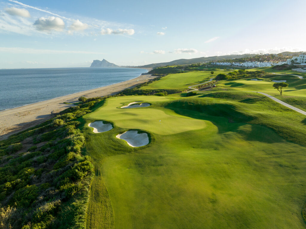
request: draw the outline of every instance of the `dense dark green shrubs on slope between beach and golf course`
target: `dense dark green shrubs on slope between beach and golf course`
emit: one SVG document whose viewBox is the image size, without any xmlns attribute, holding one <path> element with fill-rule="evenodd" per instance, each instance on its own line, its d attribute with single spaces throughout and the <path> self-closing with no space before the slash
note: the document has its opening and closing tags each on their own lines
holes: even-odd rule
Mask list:
<svg viewBox="0 0 306 229">
<path fill-rule="evenodd" d="M 16 203 L 1 222 L 12 228 L 85 228 L 94 166 L 89 156 L 81 154 L 85 138 L 76 128 L 80 125 L 76 118 L 102 101 L 88 99 L 0 141 L 1 214 Z M 23 149 L 21 141 L 26 138 L 26 144 L 33 146 L 14 154 Z M 37 145 L 40 142 L 46 143 Z"/>
</svg>

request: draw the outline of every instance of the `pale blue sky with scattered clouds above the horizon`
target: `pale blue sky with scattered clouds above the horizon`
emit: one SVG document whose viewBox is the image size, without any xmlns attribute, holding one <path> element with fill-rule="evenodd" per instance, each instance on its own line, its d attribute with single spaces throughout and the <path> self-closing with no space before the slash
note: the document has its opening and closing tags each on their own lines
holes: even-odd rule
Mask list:
<svg viewBox="0 0 306 229">
<path fill-rule="evenodd" d="M 306 51 L 305 0 L 0 0 L 0 68 Z"/>
</svg>

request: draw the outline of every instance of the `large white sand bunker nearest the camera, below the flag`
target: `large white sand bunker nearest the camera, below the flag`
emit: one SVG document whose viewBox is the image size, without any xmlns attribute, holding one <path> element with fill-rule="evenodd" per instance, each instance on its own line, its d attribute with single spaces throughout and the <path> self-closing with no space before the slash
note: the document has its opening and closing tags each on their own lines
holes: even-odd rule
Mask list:
<svg viewBox="0 0 306 229">
<path fill-rule="evenodd" d="M 148 134 L 138 134 L 138 131 L 125 131 L 123 134 L 118 134 L 116 138 L 125 140 L 129 146 L 132 147 L 145 146 L 149 144 Z"/>
</svg>

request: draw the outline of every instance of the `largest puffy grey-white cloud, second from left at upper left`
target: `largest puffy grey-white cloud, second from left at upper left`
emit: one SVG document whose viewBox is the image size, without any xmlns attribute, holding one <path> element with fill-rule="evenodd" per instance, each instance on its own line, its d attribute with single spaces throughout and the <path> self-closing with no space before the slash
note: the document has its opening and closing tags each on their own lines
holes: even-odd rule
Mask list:
<svg viewBox="0 0 306 229">
<path fill-rule="evenodd" d="M 35 21 L 34 26 L 40 31 L 62 31 L 65 28 L 65 22 L 59 17 L 41 17 Z"/>
</svg>

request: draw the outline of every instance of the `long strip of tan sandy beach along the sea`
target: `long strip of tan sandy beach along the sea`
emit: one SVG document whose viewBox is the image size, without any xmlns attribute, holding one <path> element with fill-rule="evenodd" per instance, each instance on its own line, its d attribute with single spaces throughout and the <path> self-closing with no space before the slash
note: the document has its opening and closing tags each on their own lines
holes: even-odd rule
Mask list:
<svg viewBox="0 0 306 229">
<path fill-rule="evenodd" d="M 74 94 L 49 99 L 43 102 L 37 102 L 30 105 L 1 111 L 0 140 L 6 139 L 14 133 L 25 130 L 29 127 L 33 127 L 44 122 L 45 120 L 50 119 L 52 117 L 52 111 L 57 113 L 71 106 L 64 104 L 63 102 L 78 102 L 78 97 L 80 96 L 92 98 L 98 96 L 114 95 L 126 88 L 132 88 L 155 77 L 156 76 L 152 76 L 150 74 L 141 75 L 135 79 L 130 79 L 121 83 L 77 92 Z"/>
</svg>

